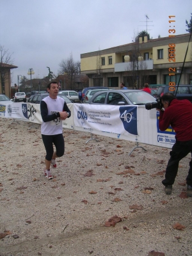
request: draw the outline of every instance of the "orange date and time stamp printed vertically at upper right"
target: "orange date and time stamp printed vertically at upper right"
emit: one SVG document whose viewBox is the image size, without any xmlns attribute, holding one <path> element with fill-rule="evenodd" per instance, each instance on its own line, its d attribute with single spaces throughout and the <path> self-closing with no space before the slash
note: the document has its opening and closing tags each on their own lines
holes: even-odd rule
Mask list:
<svg viewBox="0 0 192 256">
<path fill-rule="evenodd" d="M 174 18 L 175 18 L 175 16 L 169 16 L 170 20 L 168 20 L 168 22 L 170 24 L 175 24 L 174 23 L 175 20 L 171 20 L 171 19 L 174 19 Z M 173 26 L 170 25 L 170 28 L 171 29 L 168 29 L 168 33 L 169 34 L 175 34 L 175 25 L 173 25 Z M 171 37 L 171 38 L 174 37 L 174 36 L 175 35 L 169 35 L 169 37 Z M 168 44 L 168 49 L 169 49 L 169 51 L 168 51 L 168 54 L 169 54 L 168 61 L 175 62 L 175 44 Z M 175 76 L 175 68 L 169 68 L 168 71 L 169 71 L 169 76 Z M 175 82 L 170 82 L 169 83 L 169 91 L 171 91 L 171 92 L 175 91 Z"/>
</svg>

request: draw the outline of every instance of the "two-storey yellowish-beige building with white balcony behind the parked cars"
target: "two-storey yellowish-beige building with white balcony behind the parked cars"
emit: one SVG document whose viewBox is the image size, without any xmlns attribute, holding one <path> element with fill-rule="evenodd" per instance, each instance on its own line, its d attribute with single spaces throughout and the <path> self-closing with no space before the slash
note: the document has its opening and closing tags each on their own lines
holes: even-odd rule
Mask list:
<svg viewBox="0 0 192 256">
<path fill-rule="evenodd" d="M 144 83 L 192 84 L 192 38 L 189 42 L 189 36 L 189 33 L 172 34 L 151 40 L 145 36 L 144 40 L 136 38 L 131 44 L 81 54 L 81 74 L 89 77 L 89 86 L 116 89 L 121 82 L 127 88 L 142 88 Z"/>
</svg>

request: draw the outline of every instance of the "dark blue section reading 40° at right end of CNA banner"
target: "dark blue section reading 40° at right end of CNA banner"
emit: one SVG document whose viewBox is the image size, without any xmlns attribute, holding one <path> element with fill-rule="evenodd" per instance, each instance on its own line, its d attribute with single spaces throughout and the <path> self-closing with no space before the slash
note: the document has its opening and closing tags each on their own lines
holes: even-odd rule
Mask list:
<svg viewBox="0 0 192 256">
<path fill-rule="evenodd" d="M 124 125 L 125 131 L 138 135 L 137 127 L 137 107 L 120 107 L 120 119 Z"/>
</svg>

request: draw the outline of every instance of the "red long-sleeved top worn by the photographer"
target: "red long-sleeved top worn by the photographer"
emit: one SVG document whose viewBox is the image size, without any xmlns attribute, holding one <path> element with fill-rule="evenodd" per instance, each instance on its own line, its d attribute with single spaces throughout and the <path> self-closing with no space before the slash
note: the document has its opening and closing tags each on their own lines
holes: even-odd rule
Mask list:
<svg viewBox="0 0 192 256">
<path fill-rule="evenodd" d="M 178 141 L 192 140 L 192 104 L 189 100 L 173 99 L 168 108 L 160 111 L 159 129 L 165 131 L 169 125 L 175 130 Z"/>
</svg>

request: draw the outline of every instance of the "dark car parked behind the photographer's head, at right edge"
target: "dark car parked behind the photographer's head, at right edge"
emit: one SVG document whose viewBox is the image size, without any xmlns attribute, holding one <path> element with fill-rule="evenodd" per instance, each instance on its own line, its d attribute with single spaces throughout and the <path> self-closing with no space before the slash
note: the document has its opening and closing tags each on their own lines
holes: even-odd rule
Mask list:
<svg viewBox="0 0 192 256">
<path fill-rule="evenodd" d="M 170 90 L 172 88 L 175 88 L 174 91 Z M 175 95 L 176 91 L 176 97 L 178 100 L 183 100 L 183 99 L 187 99 L 190 100 L 192 102 L 192 84 L 179 84 L 178 86 L 178 90 L 177 90 L 177 84 L 175 84 L 175 86 L 173 87 L 169 85 L 162 85 L 159 86 L 156 94 L 154 96 L 156 97 L 161 97 L 164 93 L 173 93 Z"/>
</svg>

